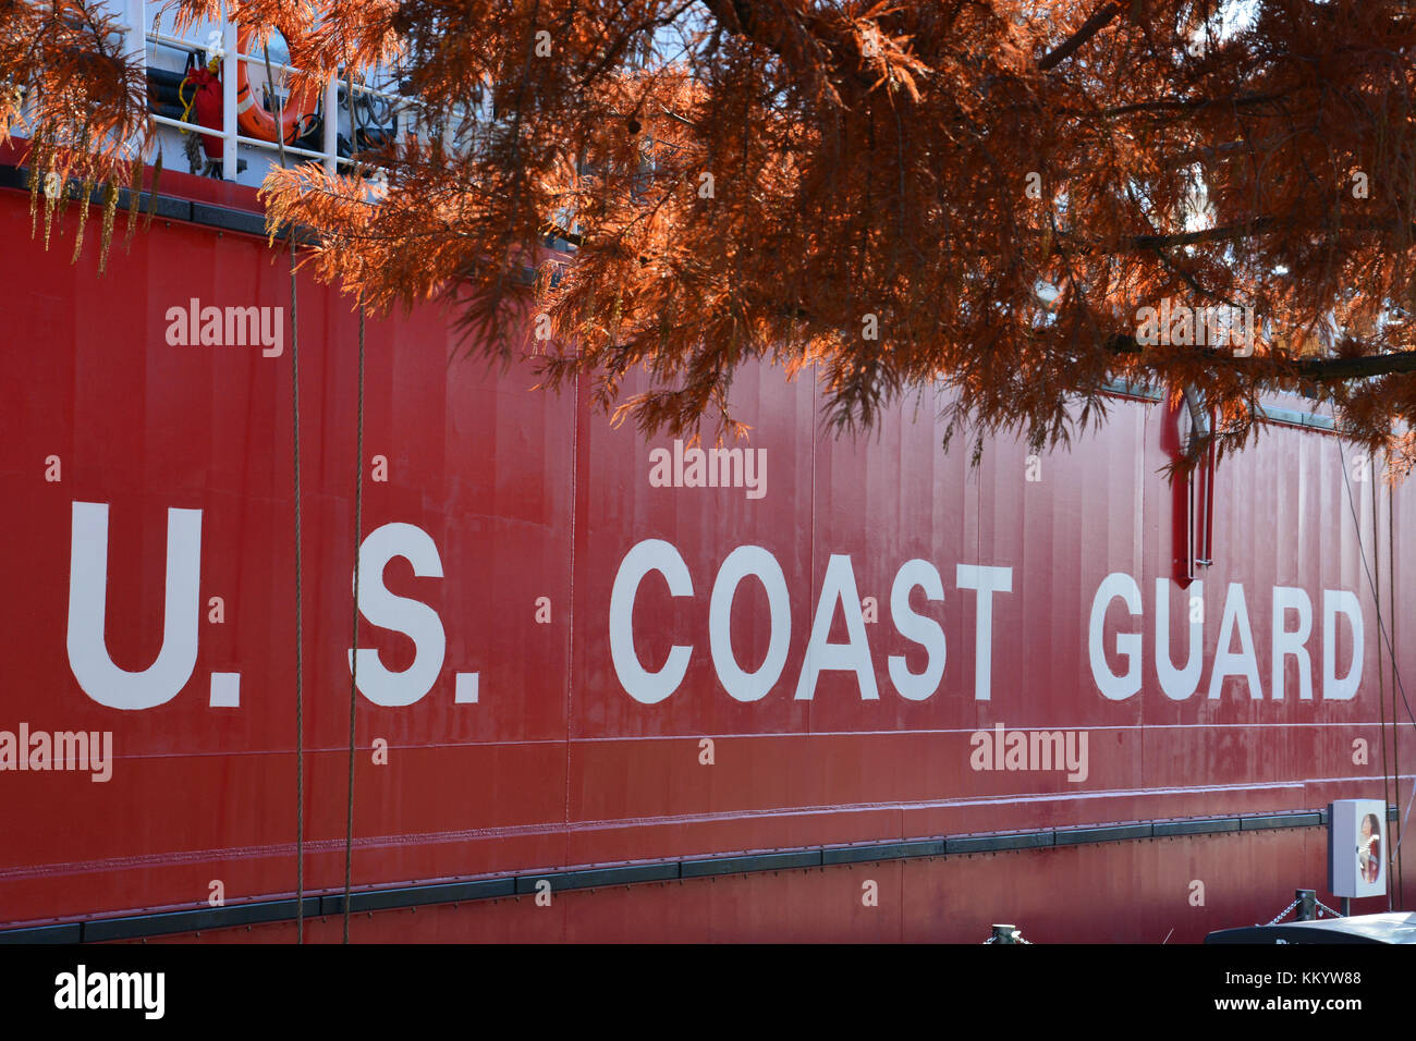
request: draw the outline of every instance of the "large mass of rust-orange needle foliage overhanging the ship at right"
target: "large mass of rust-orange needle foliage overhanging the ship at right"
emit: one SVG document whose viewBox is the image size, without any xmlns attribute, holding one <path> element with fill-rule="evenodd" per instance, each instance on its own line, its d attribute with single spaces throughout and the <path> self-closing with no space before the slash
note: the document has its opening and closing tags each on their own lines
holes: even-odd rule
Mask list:
<svg viewBox="0 0 1416 1041">
<path fill-rule="evenodd" d="M 548 381 L 589 378 L 644 429 L 733 428 L 752 358 L 814 367 L 844 426 L 943 385 L 954 423 L 1065 442 L 1113 377 L 1198 391 L 1221 449 L 1273 389 L 1372 448 L 1416 426 L 1413 3 L 235 10 L 312 76 L 396 55 L 429 130 L 365 156 L 377 205 L 358 177 L 276 170 L 272 227 L 314 229 L 317 271 L 371 307 L 453 296 L 476 351 L 547 316 Z M 1165 299 L 1250 309 L 1256 350 L 1138 343 Z"/>
</svg>

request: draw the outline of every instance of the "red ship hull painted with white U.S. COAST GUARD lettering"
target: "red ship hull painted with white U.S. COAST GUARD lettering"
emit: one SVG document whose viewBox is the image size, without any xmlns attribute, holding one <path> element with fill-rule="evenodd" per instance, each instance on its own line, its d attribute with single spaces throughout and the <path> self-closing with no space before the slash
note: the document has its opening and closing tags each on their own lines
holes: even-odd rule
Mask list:
<svg viewBox="0 0 1416 1041">
<path fill-rule="evenodd" d="M 357 319 L 300 275 L 297 623 L 295 344 L 171 343 L 193 300 L 198 317 L 289 309 L 283 256 L 157 218 L 99 276 L 92 251 L 69 263 L 72 220 L 47 252 L 27 197 L 0 191 L 0 731 L 110 734 L 110 776 L 0 772 L 0 929 L 190 939 L 197 919 L 150 916 L 303 885 L 307 939 L 337 939 L 320 898 L 344 884 Z M 1221 463 L 1195 596 L 1171 581 L 1192 528 L 1160 473 L 1164 402 L 1116 398 L 1070 450 L 991 439 L 970 466 L 967 445 L 940 448 L 929 395 L 837 439 L 811 378 L 749 370 L 733 404 L 758 470 L 716 457 L 743 479 L 697 487 L 673 439 L 610 428 L 583 389 L 532 391 L 530 363 L 456 351 L 430 305 L 368 326 L 362 585 L 382 615 L 358 630 L 377 657 L 360 661 L 353 882 L 423 905 L 388 897 L 357 940 L 977 942 L 991 922 L 1197 940 L 1267 921 L 1296 887 L 1321 898 L 1325 830 L 1303 812 L 1383 787 L 1405 810 L 1416 742 L 1398 731 L 1403 779 L 1383 786 L 1381 629 L 1412 674 L 1410 490 L 1392 564 L 1388 490 L 1374 542 L 1374 486 L 1330 433 L 1272 425 Z M 170 592 L 188 578 L 195 603 Z M 1063 732 L 1059 753 L 1085 734 L 1085 769 L 1010 766 L 1012 731 Z M 615 865 L 636 870 L 575 881 Z M 459 880 L 510 894 L 428 897 Z M 200 935 L 290 939 L 293 914 Z"/>
</svg>

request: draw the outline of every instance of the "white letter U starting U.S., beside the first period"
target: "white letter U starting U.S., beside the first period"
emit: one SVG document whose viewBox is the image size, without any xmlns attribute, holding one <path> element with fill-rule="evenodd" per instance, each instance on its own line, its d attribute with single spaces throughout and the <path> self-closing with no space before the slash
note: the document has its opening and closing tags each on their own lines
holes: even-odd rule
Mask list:
<svg viewBox="0 0 1416 1041">
<path fill-rule="evenodd" d="M 108 503 L 74 503 L 69 550 L 69 669 L 109 708 L 153 708 L 177 697 L 197 666 L 201 510 L 167 510 L 163 646 L 140 673 L 113 664 L 103 639 L 108 609 Z"/>
</svg>

